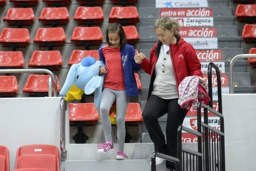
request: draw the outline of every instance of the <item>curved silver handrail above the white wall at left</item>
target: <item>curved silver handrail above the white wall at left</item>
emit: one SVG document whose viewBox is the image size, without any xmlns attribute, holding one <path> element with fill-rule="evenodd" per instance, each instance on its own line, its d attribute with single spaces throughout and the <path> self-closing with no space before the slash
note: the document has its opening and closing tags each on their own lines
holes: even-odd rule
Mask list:
<svg viewBox="0 0 256 171">
<path fill-rule="evenodd" d="M 49 74 L 49 84 L 48 84 L 48 96 L 52 97 L 52 87 L 53 87 L 53 97 L 57 97 L 57 79 L 52 71 L 48 69 L 0 69 L 0 74 L 9 73 L 46 73 Z"/>
</svg>

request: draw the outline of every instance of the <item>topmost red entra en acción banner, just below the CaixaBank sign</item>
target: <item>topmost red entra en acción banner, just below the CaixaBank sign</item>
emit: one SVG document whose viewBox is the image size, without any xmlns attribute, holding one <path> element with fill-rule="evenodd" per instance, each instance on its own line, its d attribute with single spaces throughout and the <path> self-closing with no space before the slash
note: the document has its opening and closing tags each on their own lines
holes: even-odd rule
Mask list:
<svg viewBox="0 0 256 171">
<path fill-rule="evenodd" d="M 212 9 L 209 8 L 162 8 L 160 17 L 211 17 Z"/>
</svg>

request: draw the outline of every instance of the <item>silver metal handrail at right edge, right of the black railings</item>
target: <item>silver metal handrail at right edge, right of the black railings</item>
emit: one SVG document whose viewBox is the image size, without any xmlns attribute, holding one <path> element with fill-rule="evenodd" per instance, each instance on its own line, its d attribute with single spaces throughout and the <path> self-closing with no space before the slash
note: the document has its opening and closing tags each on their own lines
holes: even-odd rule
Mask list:
<svg viewBox="0 0 256 171">
<path fill-rule="evenodd" d="M 231 61 L 230 61 L 230 66 L 229 66 L 229 94 L 234 94 L 234 71 L 233 71 L 233 66 L 236 61 L 236 59 L 239 58 L 256 58 L 256 54 L 241 54 L 241 55 L 236 55 Z"/>
</svg>

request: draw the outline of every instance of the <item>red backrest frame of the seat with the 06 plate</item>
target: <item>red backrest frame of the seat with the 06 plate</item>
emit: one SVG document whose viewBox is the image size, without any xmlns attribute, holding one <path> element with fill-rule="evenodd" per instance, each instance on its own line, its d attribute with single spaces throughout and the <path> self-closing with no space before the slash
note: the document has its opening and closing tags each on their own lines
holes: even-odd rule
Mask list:
<svg viewBox="0 0 256 171">
<path fill-rule="evenodd" d="M 60 171 L 60 152 L 55 145 L 33 144 L 23 145 L 17 150 L 15 168 L 18 168 L 18 159 L 22 155 L 52 154 L 56 159 L 57 171 Z"/>
</svg>

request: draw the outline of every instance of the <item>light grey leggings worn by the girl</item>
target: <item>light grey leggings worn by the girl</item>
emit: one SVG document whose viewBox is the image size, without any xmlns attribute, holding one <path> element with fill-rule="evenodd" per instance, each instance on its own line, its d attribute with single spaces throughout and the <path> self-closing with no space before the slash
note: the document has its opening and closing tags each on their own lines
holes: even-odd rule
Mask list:
<svg viewBox="0 0 256 171">
<path fill-rule="evenodd" d="M 106 141 L 112 141 L 111 123 L 108 113 L 115 99 L 118 151 L 124 151 L 125 113 L 130 99 L 130 97 L 126 95 L 125 90 L 112 90 L 108 88 L 103 90 L 100 99 L 101 123 Z"/>
</svg>

